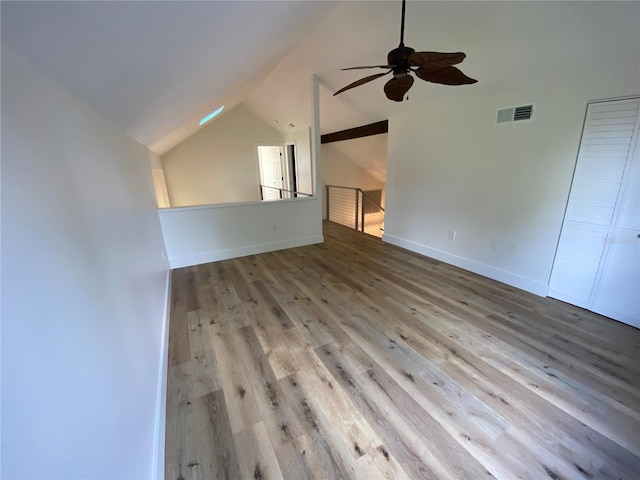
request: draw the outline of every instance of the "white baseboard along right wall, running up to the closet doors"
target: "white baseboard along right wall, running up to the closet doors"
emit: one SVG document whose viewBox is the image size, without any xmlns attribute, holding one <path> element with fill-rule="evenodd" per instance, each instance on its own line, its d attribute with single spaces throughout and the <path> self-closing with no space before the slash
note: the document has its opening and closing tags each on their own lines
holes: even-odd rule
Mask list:
<svg viewBox="0 0 640 480">
<path fill-rule="evenodd" d="M 469 258 L 460 257 L 458 255 L 443 252 L 442 250 L 427 247 L 426 245 L 421 245 L 410 240 L 405 240 L 404 238 L 394 237 L 393 235 L 389 235 L 386 233 L 383 234 L 382 240 L 392 245 L 396 245 L 398 247 L 411 250 L 412 252 L 419 253 L 426 257 L 434 258 L 441 262 L 463 268 L 473 273 L 477 273 L 478 275 L 482 275 L 483 277 L 506 283 L 507 285 L 525 290 L 527 292 L 533 293 L 534 295 L 538 295 L 541 297 L 547 296 L 549 287 L 546 283 L 522 277 L 516 273 L 501 270 L 499 268 L 492 267 L 491 265 L 476 262 L 475 260 L 471 260 Z"/>
</svg>

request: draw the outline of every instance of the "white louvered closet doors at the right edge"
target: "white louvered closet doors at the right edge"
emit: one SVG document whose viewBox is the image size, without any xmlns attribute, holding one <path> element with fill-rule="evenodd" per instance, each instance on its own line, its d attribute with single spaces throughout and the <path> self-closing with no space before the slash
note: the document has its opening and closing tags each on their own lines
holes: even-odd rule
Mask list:
<svg viewBox="0 0 640 480">
<path fill-rule="evenodd" d="M 640 328 L 639 112 L 588 107 L 549 296 Z"/>
</svg>

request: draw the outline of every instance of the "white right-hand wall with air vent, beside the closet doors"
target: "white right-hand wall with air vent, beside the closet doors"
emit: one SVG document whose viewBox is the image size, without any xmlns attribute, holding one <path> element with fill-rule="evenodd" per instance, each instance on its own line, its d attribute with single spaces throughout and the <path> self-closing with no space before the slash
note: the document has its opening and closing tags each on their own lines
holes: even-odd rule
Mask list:
<svg viewBox="0 0 640 480">
<path fill-rule="evenodd" d="M 616 75 L 434 97 L 390 118 L 384 240 L 545 295 L 587 101 L 639 93 L 630 63 Z M 525 102 L 533 121 L 495 125 L 497 108 Z"/>
</svg>

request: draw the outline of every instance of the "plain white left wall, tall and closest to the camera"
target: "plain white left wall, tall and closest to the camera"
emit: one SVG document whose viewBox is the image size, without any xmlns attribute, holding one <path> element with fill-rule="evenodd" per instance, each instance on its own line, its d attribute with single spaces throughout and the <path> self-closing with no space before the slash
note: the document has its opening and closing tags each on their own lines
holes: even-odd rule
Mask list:
<svg viewBox="0 0 640 480">
<path fill-rule="evenodd" d="M 4 47 L 1 238 L 2 477 L 150 478 L 168 265 L 149 151 Z"/>
</svg>

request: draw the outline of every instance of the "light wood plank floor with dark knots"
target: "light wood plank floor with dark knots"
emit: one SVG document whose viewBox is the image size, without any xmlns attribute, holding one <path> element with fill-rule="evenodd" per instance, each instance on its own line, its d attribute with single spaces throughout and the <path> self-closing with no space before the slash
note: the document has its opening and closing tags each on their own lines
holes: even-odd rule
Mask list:
<svg viewBox="0 0 640 480">
<path fill-rule="evenodd" d="M 640 331 L 335 224 L 173 272 L 166 478 L 640 478 Z"/>
</svg>

